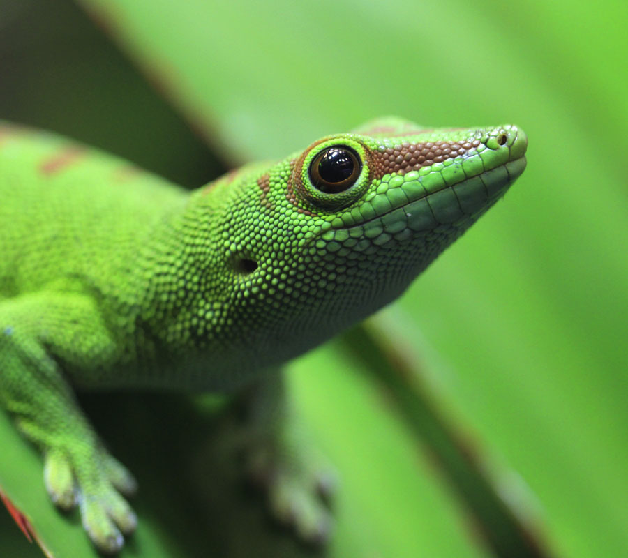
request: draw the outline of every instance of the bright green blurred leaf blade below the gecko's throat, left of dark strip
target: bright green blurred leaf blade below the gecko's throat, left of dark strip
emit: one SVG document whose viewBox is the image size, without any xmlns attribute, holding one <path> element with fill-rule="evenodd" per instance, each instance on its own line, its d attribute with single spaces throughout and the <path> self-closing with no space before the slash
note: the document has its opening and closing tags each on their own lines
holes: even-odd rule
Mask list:
<svg viewBox="0 0 628 558">
<path fill-rule="evenodd" d="M 489 555 L 482 545 L 469 544 L 472 521 L 439 482 L 431 456 L 391 412 L 394 403 L 343 342 L 328 343 L 291 368 L 304 416 L 341 472 L 331 556 Z M 353 537 L 361 552 L 347 544 Z"/>
</svg>

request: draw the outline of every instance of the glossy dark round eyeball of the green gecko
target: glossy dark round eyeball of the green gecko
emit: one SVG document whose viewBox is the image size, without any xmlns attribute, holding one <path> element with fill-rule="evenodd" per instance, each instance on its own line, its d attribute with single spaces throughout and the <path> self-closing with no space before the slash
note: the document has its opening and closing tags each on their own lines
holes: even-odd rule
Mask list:
<svg viewBox="0 0 628 558">
<path fill-rule="evenodd" d="M 359 156 L 353 149 L 334 145 L 315 156 L 310 165 L 310 179 L 317 190 L 336 194 L 351 188 L 361 169 Z"/>
</svg>

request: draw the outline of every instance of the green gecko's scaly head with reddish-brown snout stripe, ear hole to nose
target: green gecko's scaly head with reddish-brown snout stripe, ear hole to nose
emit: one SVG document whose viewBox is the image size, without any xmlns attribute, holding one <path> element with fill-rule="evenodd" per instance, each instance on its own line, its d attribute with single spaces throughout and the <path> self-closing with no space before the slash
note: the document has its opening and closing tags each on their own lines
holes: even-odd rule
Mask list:
<svg viewBox="0 0 628 558">
<path fill-rule="evenodd" d="M 277 347 L 299 335 L 315 345 L 389 303 L 504 194 L 526 146 L 511 125 L 386 119 L 251 169 L 228 195 L 217 188 L 234 323 L 272 332 Z"/>
</svg>

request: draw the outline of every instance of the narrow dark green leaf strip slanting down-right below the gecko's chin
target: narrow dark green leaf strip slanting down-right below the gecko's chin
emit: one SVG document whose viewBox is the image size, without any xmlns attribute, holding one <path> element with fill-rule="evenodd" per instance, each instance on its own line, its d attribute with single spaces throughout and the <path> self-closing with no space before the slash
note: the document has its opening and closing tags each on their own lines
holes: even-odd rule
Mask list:
<svg viewBox="0 0 628 558">
<path fill-rule="evenodd" d="M 489 472 L 486 451 L 472 442 L 461 424 L 444 416 L 435 390 L 429 389 L 414 364 L 417 359 L 401 348 L 401 328 L 390 317 L 391 312 L 380 312 L 345 333 L 343 343 L 394 399 L 398 413 L 433 455 L 495 555 L 549 557 L 531 525 L 530 520 L 538 522 L 538 518 L 531 517 L 530 509 L 522 509 L 522 502 L 512 502 L 500 493 L 495 475 Z"/>
</svg>

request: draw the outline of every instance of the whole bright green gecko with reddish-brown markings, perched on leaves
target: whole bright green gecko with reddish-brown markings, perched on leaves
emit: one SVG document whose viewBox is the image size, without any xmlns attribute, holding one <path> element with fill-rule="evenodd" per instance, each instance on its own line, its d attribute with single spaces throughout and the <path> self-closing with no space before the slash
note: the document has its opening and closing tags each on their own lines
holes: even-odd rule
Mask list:
<svg viewBox="0 0 628 558">
<path fill-rule="evenodd" d="M 393 301 L 525 169 L 516 126 L 379 119 L 192 193 L 54 135 L 0 125 L 0 406 L 59 508 L 114 553 L 133 476 L 74 389 L 237 392 L 271 512 L 323 540 L 324 476 L 281 365 Z"/>
</svg>

